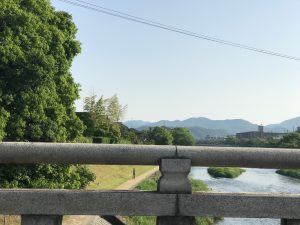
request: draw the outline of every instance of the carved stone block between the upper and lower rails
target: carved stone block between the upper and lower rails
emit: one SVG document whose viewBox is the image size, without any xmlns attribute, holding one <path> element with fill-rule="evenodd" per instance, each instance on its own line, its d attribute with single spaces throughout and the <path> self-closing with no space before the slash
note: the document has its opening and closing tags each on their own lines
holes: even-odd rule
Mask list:
<svg viewBox="0 0 300 225">
<path fill-rule="evenodd" d="M 162 177 L 158 181 L 160 193 L 191 193 L 192 187 L 188 179 L 191 171 L 190 159 L 162 159 L 160 164 Z"/>
</svg>

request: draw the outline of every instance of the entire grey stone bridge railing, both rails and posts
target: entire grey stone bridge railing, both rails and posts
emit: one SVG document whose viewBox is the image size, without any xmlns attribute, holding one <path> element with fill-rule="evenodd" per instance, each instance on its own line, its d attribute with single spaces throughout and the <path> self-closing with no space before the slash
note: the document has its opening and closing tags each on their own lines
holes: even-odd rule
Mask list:
<svg viewBox="0 0 300 225">
<path fill-rule="evenodd" d="M 192 193 L 187 177 L 191 166 L 300 168 L 297 149 L 0 143 L 0 163 L 160 165 L 156 192 L 0 189 L 0 214 L 22 215 L 22 225 L 60 225 L 62 215 L 157 216 L 159 225 L 195 224 L 195 216 L 281 218 L 300 225 L 300 194 Z"/>
</svg>

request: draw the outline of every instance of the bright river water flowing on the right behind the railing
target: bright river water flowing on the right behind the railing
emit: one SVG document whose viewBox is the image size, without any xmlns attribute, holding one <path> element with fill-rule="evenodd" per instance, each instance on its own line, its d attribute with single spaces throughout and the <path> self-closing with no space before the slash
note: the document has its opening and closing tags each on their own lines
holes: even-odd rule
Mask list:
<svg viewBox="0 0 300 225">
<path fill-rule="evenodd" d="M 207 168 L 194 167 L 191 177 L 204 181 L 217 192 L 285 192 L 300 193 L 300 180 L 281 176 L 271 169 L 246 169 L 235 179 L 212 178 Z M 278 219 L 224 218 L 218 225 L 280 225 Z"/>
</svg>

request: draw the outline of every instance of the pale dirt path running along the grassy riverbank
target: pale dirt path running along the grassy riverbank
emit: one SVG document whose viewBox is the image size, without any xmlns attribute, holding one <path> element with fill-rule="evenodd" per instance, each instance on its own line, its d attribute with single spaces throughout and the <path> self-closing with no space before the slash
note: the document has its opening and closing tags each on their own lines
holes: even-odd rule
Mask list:
<svg viewBox="0 0 300 225">
<path fill-rule="evenodd" d="M 131 190 L 143 180 L 150 177 L 152 174 L 158 171 L 158 167 L 147 171 L 146 173 L 131 179 L 121 184 L 115 190 Z M 101 219 L 99 216 L 69 216 L 63 221 L 63 225 L 110 225 L 105 220 Z"/>
</svg>

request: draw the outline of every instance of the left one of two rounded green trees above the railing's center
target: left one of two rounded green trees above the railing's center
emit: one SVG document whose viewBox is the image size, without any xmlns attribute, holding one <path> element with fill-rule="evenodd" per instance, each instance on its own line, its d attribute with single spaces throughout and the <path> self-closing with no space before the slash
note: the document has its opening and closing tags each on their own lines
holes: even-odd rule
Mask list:
<svg viewBox="0 0 300 225">
<path fill-rule="evenodd" d="M 171 145 L 173 143 L 172 133 L 166 127 L 151 127 L 149 137 L 155 145 Z"/>
</svg>

